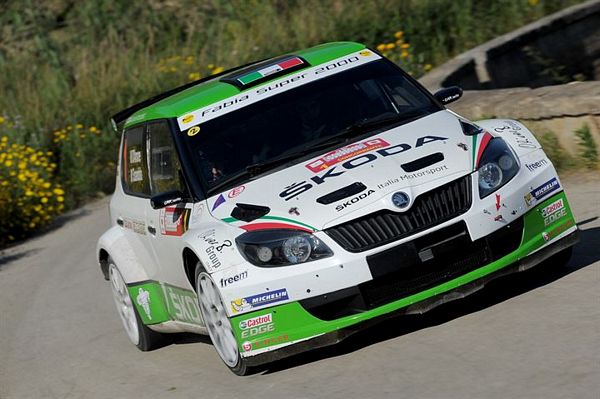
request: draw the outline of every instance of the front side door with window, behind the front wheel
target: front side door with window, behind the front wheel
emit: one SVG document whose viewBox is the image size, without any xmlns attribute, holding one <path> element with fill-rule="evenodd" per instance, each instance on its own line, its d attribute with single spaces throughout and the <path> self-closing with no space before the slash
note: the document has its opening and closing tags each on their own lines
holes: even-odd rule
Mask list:
<svg viewBox="0 0 600 399">
<path fill-rule="evenodd" d="M 148 156 L 151 195 L 179 190 L 186 192 L 181 164 L 167 121 L 148 123 Z M 187 232 L 192 204 L 153 209 L 146 204 L 148 225 L 154 228 L 150 242 L 160 269 L 169 312 L 179 321 L 202 324 L 195 293 L 183 269 L 183 235 Z"/>
</svg>

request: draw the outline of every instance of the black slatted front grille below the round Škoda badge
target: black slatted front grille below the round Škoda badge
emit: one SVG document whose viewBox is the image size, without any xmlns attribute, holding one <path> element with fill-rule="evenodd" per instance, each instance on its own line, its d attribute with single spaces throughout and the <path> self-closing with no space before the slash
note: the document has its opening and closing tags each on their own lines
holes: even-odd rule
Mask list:
<svg viewBox="0 0 600 399">
<path fill-rule="evenodd" d="M 382 210 L 325 230 L 349 252 L 361 252 L 426 230 L 471 207 L 471 176 L 418 196 L 406 212 Z"/>
</svg>

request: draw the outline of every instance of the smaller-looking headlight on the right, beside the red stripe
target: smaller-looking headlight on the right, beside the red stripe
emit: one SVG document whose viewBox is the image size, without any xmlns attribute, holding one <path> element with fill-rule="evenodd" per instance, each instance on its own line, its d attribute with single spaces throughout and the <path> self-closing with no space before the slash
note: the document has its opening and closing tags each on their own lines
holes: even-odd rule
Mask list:
<svg viewBox="0 0 600 399">
<path fill-rule="evenodd" d="M 491 139 L 479 160 L 479 198 L 485 198 L 515 177 L 519 162 L 501 138 Z"/>
</svg>

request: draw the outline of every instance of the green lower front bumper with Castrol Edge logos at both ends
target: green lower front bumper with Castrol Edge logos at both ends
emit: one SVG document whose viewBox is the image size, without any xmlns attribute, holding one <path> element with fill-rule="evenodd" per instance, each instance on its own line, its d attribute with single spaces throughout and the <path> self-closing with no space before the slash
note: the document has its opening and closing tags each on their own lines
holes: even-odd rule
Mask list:
<svg viewBox="0 0 600 399">
<path fill-rule="evenodd" d="M 563 201 L 566 212 L 562 217 L 548 222 L 542 210 L 558 200 Z M 512 224 L 519 226 L 518 223 Z M 370 302 L 370 305 L 364 303 L 362 298 L 363 305 L 366 306 L 361 308 L 356 302 L 352 302 L 354 299 L 344 302 L 345 294 L 341 295 L 342 301 L 336 303 L 335 300 L 340 299 L 336 298 L 336 295 L 340 294 L 334 292 L 329 293 L 334 299 L 331 302 L 334 304 L 333 312 L 329 313 L 315 312 L 315 307 L 311 308 L 310 301 L 304 300 L 233 317 L 231 320 L 240 352 L 249 364 L 257 365 L 307 349 L 334 344 L 372 322 L 379 322 L 382 318 L 423 313 L 440 304 L 463 298 L 481 289 L 495 278 L 527 270 L 577 242 L 577 227 L 563 192 L 540 202 L 538 206 L 523 215 L 518 230 L 512 232 L 513 235 L 517 235 L 516 249 L 505 247 L 502 253 L 490 250 L 493 243 L 489 238 L 495 234 L 492 233 L 488 237 L 474 241 L 484 243 L 483 246 L 488 253 L 485 264 L 473 263 L 471 266 L 474 265 L 474 268 L 459 268 L 458 273 L 455 274 L 448 274 L 449 271 L 446 269 L 438 270 L 441 277 L 438 276 L 440 278 L 435 280 L 433 285 L 400 291 L 400 296 L 397 298 L 366 301 Z M 506 242 L 509 236 L 510 234 L 495 240 Z M 484 241 L 481 241 L 482 239 Z M 464 248 L 459 247 L 455 251 L 464 251 Z M 385 280 L 387 277 L 384 275 L 382 278 Z M 361 287 L 350 287 L 349 290 L 357 288 Z M 380 288 L 376 287 L 377 289 Z M 391 289 L 393 291 L 397 287 Z M 318 302 L 318 299 L 315 301 Z M 340 308 L 337 313 L 336 306 Z M 268 320 L 269 324 L 247 328 L 246 321 L 256 320 L 260 316 L 267 316 L 264 320 Z"/>
</svg>

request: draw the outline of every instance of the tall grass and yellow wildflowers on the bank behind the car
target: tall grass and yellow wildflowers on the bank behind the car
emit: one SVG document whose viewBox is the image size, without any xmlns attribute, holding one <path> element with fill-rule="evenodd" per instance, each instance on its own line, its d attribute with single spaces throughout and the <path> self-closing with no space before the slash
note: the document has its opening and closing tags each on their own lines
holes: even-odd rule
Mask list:
<svg viewBox="0 0 600 399">
<path fill-rule="evenodd" d="M 0 4 L 0 246 L 110 193 L 113 113 L 183 83 L 328 41 L 418 77 L 577 0 L 12 0 Z M 590 155 L 591 156 L 591 155 Z"/>
</svg>

